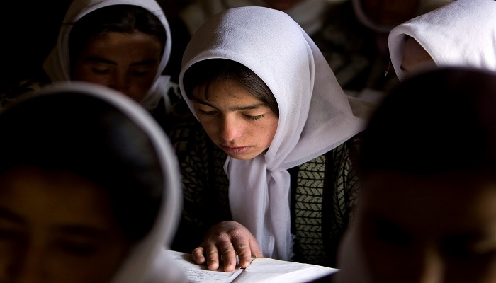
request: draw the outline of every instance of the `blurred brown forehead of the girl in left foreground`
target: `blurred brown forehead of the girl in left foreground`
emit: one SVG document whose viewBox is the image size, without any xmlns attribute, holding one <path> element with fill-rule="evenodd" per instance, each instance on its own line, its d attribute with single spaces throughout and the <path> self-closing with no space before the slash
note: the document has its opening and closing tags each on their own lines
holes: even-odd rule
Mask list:
<svg viewBox="0 0 496 283">
<path fill-rule="evenodd" d="M 72 173 L 23 167 L 1 173 L 0 183 L 0 207 L 30 223 L 101 227 L 113 223 L 111 203 L 103 189 Z"/>
</svg>

